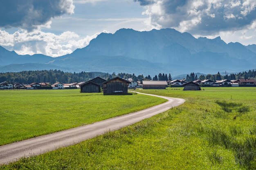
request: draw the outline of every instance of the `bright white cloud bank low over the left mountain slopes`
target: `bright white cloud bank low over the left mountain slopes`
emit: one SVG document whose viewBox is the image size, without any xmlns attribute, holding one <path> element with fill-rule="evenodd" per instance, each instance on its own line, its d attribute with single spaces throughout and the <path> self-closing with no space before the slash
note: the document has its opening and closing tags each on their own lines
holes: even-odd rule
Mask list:
<svg viewBox="0 0 256 170">
<path fill-rule="evenodd" d="M 107 31 L 103 31 L 107 32 Z M 77 48 L 87 46 L 91 39 L 100 33 L 80 37 L 74 32 L 64 32 L 60 35 L 45 33 L 40 30 L 19 30 L 13 34 L 0 30 L 0 46 L 8 50 L 15 50 L 18 54 L 45 54 L 58 57 L 70 54 Z"/>
</svg>

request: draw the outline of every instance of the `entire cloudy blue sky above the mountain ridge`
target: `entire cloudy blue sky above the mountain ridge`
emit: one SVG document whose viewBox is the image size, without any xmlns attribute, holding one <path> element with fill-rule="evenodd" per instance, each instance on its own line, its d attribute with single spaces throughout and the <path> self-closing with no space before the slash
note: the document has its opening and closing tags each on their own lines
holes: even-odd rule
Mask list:
<svg viewBox="0 0 256 170">
<path fill-rule="evenodd" d="M 120 28 L 256 44 L 256 0 L 2 0 L 0 16 L 0 46 L 18 54 L 70 54 Z"/>
</svg>

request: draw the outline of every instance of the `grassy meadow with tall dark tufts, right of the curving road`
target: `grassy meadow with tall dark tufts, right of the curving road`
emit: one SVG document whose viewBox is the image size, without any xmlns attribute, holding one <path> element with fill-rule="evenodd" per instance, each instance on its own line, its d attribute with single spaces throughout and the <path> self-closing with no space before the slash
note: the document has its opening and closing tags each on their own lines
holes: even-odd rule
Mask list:
<svg viewBox="0 0 256 170">
<path fill-rule="evenodd" d="M 139 92 L 186 102 L 132 126 L 0 169 L 256 169 L 256 88 Z"/>
</svg>

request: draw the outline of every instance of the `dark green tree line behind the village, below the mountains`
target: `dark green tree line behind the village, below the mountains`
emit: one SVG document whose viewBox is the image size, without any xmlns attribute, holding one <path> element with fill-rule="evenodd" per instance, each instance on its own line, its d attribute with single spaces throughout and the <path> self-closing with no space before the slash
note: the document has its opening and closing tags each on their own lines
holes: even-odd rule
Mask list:
<svg viewBox="0 0 256 170">
<path fill-rule="evenodd" d="M 101 77 L 106 80 L 119 76 L 124 79 L 132 78 L 134 81 L 143 81 L 143 80 L 153 80 L 153 81 L 171 81 L 172 76 L 171 74 L 161 74 L 159 73 L 158 76 L 155 75 L 151 77 L 150 75 L 144 77 L 143 74 L 136 76 L 135 74 L 129 73 L 118 73 L 116 74 L 113 72 L 104 73 L 104 72 L 79 72 L 79 73 L 70 73 L 70 72 L 63 72 L 61 70 L 41 70 L 41 71 L 22 71 L 22 72 L 6 72 L 0 73 L 0 82 L 3 81 L 10 81 L 10 82 L 18 82 L 22 84 L 30 84 L 34 82 L 47 82 L 47 83 L 74 83 L 74 82 L 82 82 L 88 81 L 95 77 Z M 207 74 L 207 75 L 200 75 L 198 77 L 197 74 L 191 72 L 190 74 L 186 75 L 186 81 L 195 81 L 197 79 L 204 80 L 210 79 L 212 81 L 228 79 L 228 80 L 235 80 L 239 78 L 256 78 L 256 70 L 249 70 L 245 72 L 239 72 L 236 74 L 226 74 L 221 75 L 220 72 L 217 74 Z"/>
</svg>

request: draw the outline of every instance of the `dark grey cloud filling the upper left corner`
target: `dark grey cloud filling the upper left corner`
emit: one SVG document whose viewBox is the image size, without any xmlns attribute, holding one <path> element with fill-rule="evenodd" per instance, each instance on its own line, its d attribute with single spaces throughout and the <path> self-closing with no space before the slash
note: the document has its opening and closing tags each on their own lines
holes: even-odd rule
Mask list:
<svg viewBox="0 0 256 170">
<path fill-rule="evenodd" d="M 0 27 L 33 30 L 49 27 L 53 17 L 74 13 L 72 0 L 3 0 L 0 5 Z"/>
</svg>

